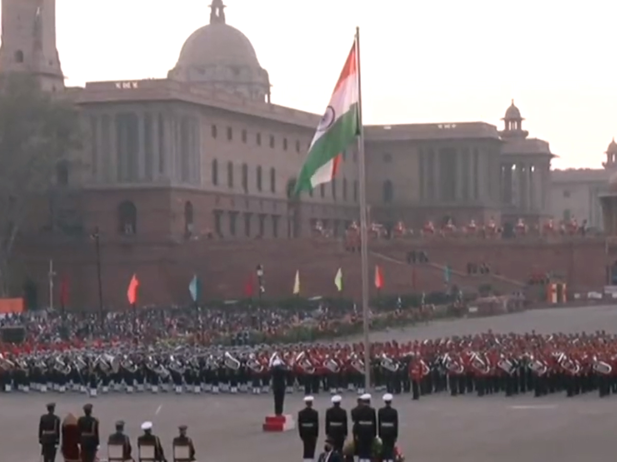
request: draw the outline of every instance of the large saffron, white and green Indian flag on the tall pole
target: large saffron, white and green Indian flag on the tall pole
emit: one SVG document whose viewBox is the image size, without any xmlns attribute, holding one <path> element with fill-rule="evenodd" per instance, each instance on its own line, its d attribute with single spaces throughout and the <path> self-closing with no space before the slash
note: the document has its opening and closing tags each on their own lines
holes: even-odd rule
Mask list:
<svg viewBox="0 0 617 462">
<path fill-rule="evenodd" d="M 354 41 L 326 112 L 310 144 L 309 154 L 300 170 L 296 195 L 330 182 L 336 176 L 342 152 L 360 132 L 357 50 L 357 43 Z"/>
</svg>

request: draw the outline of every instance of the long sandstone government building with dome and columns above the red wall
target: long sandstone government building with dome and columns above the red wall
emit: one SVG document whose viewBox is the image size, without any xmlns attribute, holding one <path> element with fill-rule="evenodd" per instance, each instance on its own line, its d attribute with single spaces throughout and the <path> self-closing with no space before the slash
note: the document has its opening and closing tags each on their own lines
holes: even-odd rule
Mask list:
<svg viewBox="0 0 617 462">
<path fill-rule="evenodd" d="M 231 0 L 230 0 L 231 1 Z M 233 7 L 233 6 L 232 6 Z M 0 72 L 27 72 L 83 113 L 86 169 L 59 166 L 54 213 L 29 231 L 109 240 L 292 238 L 318 221 L 341 235 L 358 215 L 357 155 L 303 197 L 289 182 L 320 115 L 272 102 L 270 75 L 249 39 L 212 0 L 167 78 L 65 87 L 55 0 L 2 0 Z M 334 70 L 336 72 L 337 70 Z M 528 223 L 566 215 L 601 226 L 597 195 L 617 158 L 597 171 L 551 171 L 549 143 L 529 137 L 514 102 L 500 128 L 484 122 L 366 126 L 371 220 L 421 227 L 452 219 Z M 43 233 L 43 231 L 40 231 Z"/>
</svg>

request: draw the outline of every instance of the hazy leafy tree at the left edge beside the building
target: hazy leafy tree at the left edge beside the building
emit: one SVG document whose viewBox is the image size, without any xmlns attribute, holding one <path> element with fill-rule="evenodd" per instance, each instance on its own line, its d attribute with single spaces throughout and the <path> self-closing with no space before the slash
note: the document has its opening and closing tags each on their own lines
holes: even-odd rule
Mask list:
<svg viewBox="0 0 617 462">
<path fill-rule="evenodd" d="M 57 168 L 72 164 L 80 147 L 77 108 L 43 92 L 22 74 L 0 78 L 0 294 L 6 296 L 10 261 L 35 201 L 54 185 Z"/>
</svg>

